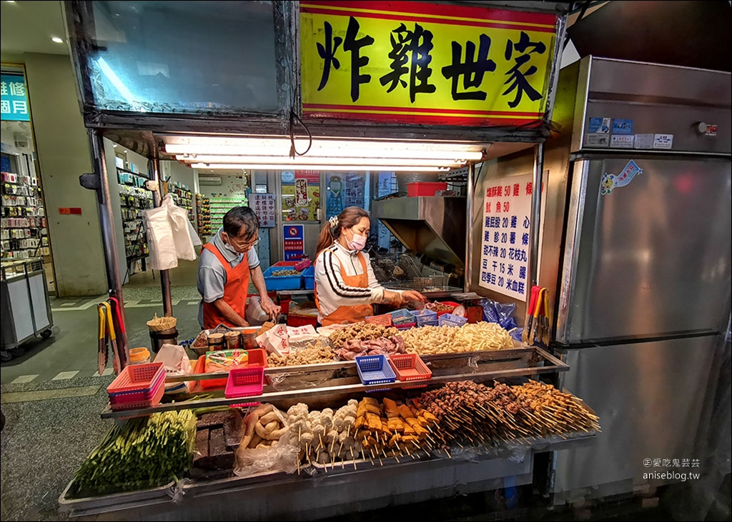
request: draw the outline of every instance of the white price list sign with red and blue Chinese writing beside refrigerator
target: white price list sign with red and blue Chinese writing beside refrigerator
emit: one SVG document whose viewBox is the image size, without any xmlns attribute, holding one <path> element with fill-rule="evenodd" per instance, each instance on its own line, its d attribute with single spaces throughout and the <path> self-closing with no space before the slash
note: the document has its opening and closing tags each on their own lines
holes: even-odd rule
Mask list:
<svg viewBox="0 0 732 522">
<path fill-rule="evenodd" d="M 526 300 L 529 281 L 532 175 L 488 182 L 483 203 L 479 286 Z"/>
</svg>

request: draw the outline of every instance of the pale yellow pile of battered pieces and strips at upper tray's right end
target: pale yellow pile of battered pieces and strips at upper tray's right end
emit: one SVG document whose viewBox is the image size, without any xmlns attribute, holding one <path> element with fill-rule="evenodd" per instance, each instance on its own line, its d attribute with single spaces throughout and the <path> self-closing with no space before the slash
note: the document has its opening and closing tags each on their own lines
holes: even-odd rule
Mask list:
<svg viewBox="0 0 732 522">
<path fill-rule="evenodd" d="M 407 353 L 419 355 L 514 347 L 509 333 L 495 322 L 477 322 L 460 328 L 425 326 L 406 330 L 402 336 Z"/>
</svg>

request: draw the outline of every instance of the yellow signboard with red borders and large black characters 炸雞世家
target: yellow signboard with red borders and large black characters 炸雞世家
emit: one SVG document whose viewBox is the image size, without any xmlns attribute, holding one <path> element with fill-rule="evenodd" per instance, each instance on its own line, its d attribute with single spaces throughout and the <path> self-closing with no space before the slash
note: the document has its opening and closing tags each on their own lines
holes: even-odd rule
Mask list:
<svg viewBox="0 0 732 522">
<path fill-rule="evenodd" d="M 300 32 L 306 116 L 523 126 L 547 108 L 555 15 L 302 0 Z"/>
</svg>

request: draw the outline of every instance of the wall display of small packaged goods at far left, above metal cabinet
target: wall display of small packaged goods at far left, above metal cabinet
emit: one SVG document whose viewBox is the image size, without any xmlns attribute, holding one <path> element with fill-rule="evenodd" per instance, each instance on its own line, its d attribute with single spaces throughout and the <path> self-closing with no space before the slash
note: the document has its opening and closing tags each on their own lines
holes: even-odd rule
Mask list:
<svg viewBox="0 0 732 522">
<path fill-rule="evenodd" d="M 1 173 L 0 255 L 3 259 L 50 256 L 38 179 Z"/>
</svg>

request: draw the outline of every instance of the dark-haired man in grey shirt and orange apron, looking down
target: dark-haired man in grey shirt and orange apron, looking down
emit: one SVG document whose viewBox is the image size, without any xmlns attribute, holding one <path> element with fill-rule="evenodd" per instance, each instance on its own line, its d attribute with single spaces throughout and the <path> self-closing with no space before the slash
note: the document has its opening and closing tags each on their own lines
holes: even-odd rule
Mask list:
<svg viewBox="0 0 732 522">
<path fill-rule="evenodd" d="M 201 328 L 249 326 L 244 311 L 250 279 L 260 295 L 262 309 L 270 316 L 280 313 L 280 307 L 267 295 L 264 274 L 253 248 L 259 242 L 258 229 L 254 211 L 234 207 L 225 214 L 223 227 L 212 241 L 203 245 L 198 262 Z"/>
</svg>

